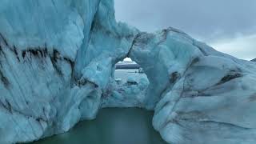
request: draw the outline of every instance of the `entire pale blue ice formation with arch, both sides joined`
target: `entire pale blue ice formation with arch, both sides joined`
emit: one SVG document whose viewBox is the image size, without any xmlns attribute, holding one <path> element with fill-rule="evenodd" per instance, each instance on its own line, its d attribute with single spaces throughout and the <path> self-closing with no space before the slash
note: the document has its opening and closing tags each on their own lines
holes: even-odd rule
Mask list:
<svg viewBox="0 0 256 144">
<path fill-rule="evenodd" d="M 115 81 L 126 57 L 147 78 Z M 181 30 L 116 22 L 114 0 L 1 0 L 0 143 L 64 133 L 104 107 L 154 110 L 168 143 L 255 143 L 255 70 Z"/>
</svg>

